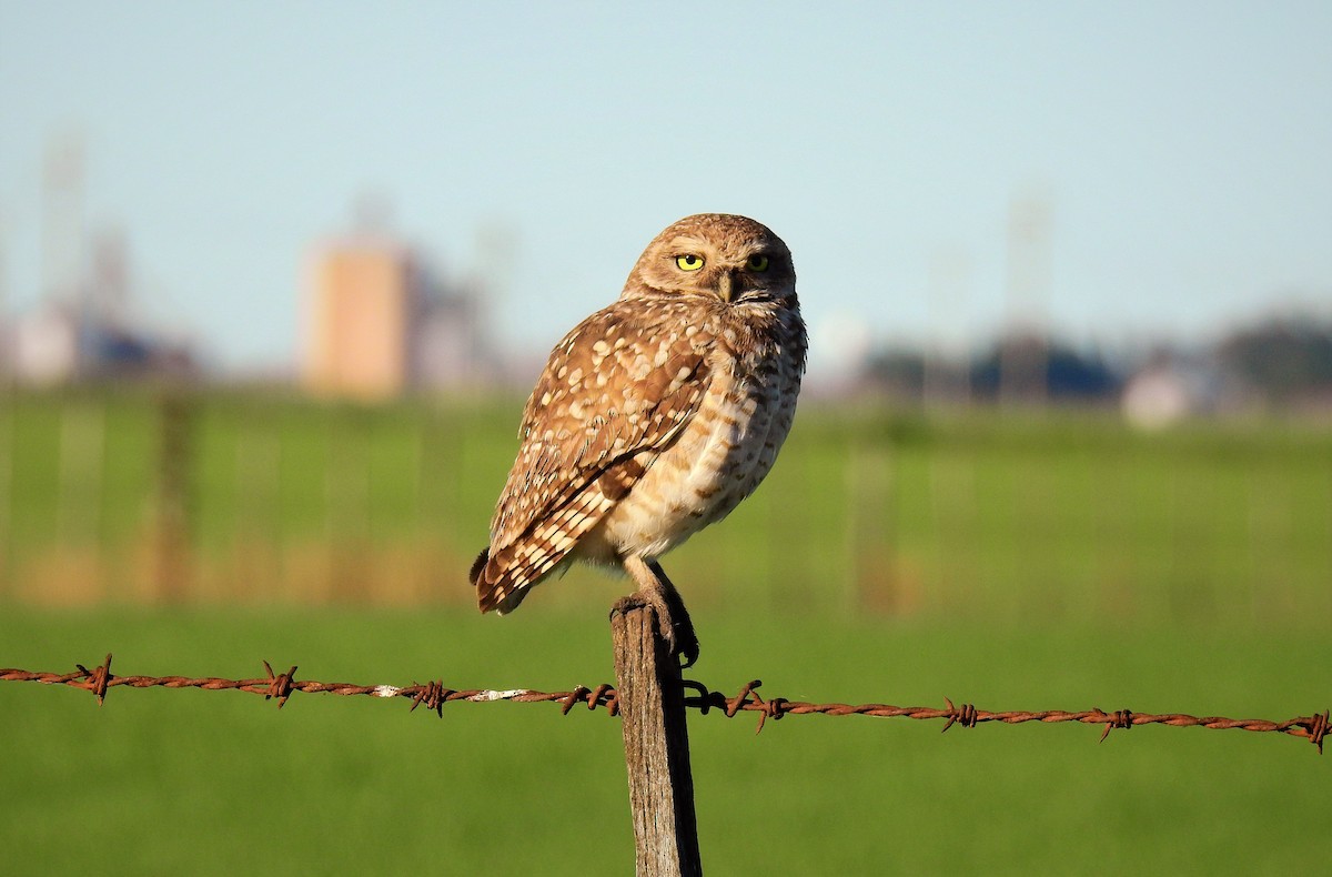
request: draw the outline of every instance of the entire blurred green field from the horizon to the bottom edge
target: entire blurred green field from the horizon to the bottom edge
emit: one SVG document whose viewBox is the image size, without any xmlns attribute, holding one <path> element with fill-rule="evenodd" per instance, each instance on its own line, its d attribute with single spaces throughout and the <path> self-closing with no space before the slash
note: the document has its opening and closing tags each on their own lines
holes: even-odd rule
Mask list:
<svg viewBox="0 0 1332 877">
<path fill-rule="evenodd" d="M 464 573 L 521 400 L 21 396 L 0 666 L 567 690 L 623 582 L 511 617 Z M 1283 720 L 1332 705 L 1332 435 L 806 407 L 666 566 L 690 677 L 765 697 Z M 1327 761 L 1237 730 L 691 716 L 710 873 L 1150 873 L 1332 860 Z M 547 704 L 0 684 L 4 873 L 619 874 L 619 726 Z"/>
</svg>

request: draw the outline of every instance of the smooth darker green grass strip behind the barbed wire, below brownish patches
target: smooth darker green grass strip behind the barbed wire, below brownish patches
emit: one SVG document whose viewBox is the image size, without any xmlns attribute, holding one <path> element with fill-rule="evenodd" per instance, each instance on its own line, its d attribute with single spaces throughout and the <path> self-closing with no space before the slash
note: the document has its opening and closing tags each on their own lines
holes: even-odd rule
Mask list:
<svg viewBox="0 0 1332 877">
<path fill-rule="evenodd" d="M 611 680 L 597 612 L 5 612 L 0 665 L 454 688 Z M 693 673 L 767 696 L 1288 718 L 1325 632 L 992 629 L 695 612 Z M 623 874 L 618 721 L 549 704 L 0 684 L 8 874 Z M 1332 857 L 1325 758 L 1239 730 L 691 714 L 710 873 L 1289 873 Z"/>
</svg>

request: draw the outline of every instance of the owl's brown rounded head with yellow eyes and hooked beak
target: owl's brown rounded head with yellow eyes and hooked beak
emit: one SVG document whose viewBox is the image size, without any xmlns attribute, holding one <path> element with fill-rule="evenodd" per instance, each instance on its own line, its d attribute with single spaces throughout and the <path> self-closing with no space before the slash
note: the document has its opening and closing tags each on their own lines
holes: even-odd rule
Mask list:
<svg viewBox="0 0 1332 877">
<path fill-rule="evenodd" d="M 791 251 L 770 228 L 743 216 L 686 216 L 653 239 L 621 297 L 662 293 L 710 296 L 726 304 L 791 299 Z"/>
</svg>

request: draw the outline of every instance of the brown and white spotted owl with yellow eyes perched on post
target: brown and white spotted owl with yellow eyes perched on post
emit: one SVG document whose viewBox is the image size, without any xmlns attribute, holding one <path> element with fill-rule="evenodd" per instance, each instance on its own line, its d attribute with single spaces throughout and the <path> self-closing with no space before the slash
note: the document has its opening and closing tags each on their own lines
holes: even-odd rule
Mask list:
<svg viewBox="0 0 1332 877">
<path fill-rule="evenodd" d="M 481 610 L 513 610 L 575 560 L 622 566 L 693 664 L 698 638 L 657 558 L 767 474 L 805 351 L 777 235 L 718 213 L 658 235 L 619 300 L 555 345 L 527 400 L 490 545 L 472 566 Z"/>
</svg>

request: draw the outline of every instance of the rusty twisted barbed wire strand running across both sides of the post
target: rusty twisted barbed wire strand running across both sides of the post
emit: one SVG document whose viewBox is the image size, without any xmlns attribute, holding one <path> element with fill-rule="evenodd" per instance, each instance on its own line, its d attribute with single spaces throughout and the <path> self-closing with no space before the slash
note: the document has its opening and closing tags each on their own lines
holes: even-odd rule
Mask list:
<svg viewBox="0 0 1332 877">
<path fill-rule="evenodd" d="M 274 673 L 272 665 L 264 661 L 265 676 L 262 678 L 229 680 L 218 677 L 188 677 L 188 676 L 115 676 L 111 672 L 111 654 L 93 669 L 83 664 L 76 664 L 79 669 L 71 673 L 33 672 L 20 669 L 0 669 L 0 682 L 40 682 L 43 685 L 67 685 L 92 692 L 101 704 L 107 692 L 117 686 L 129 688 L 197 688 L 201 690 L 240 690 L 252 694 L 262 694 L 264 700 L 276 700 L 278 708 L 296 692 L 308 694 L 344 694 L 344 696 L 372 696 L 372 697 L 402 697 L 412 701 L 412 710 L 425 706 L 441 718 L 445 704 L 454 701 L 496 702 L 514 701 L 519 704 L 555 702 L 561 704 L 563 714 L 583 704 L 590 710 L 605 708 L 610 716 L 619 714 L 619 696 L 610 685 L 586 688 L 577 685 L 567 692 L 538 692 L 527 688 L 515 689 L 453 689 L 444 685 L 442 680 L 397 685 L 356 685 L 352 682 L 320 682 L 314 680 L 297 680 L 296 665 L 285 673 Z M 1300 716 L 1285 721 L 1269 721 L 1265 718 L 1225 718 L 1224 716 L 1188 716 L 1185 713 L 1135 713 L 1128 709 L 1106 712 L 1103 709 L 1086 709 L 1068 712 L 1060 709 L 1046 710 L 1007 710 L 991 712 L 978 709 L 972 704 L 955 706 L 944 697 L 947 706 L 894 706 L 891 704 L 814 704 L 809 701 L 791 701 L 785 697 L 771 697 L 763 700 L 758 694 L 762 685 L 759 680 L 746 682 L 734 697 L 726 697 L 721 692 L 711 690 L 702 682 L 683 680 L 682 685 L 690 694 L 685 697 L 685 706 L 698 709 L 701 713 L 717 710 L 727 718 L 734 718 L 742 712 L 758 713 L 758 728 L 755 733 L 763 730 L 765 722 L 779 720 L 786 716 L 876 716 L 880 718 L 915 718 L 936 720 L 943 718 L 942 730 L 948 730 L 954 725 L 975 728 L 982 722 L 1004 722 L 1016 725 L 1023 722 L 1080 722 L 1084 725 L 1102 725 L 1100 740 L 1104 741 L 1115 729 L 1130 729 L 1136 725 L 1168 725 L 1172 728 L 1211 728 L 1213 730 L 1252 730 L 1259 733 L 1280 732 L 1292 737 L 1304 737 L 1323 754 L 1323 740 L 1327 737 L 1332 722 L 1329 710 L 1312 716 Z"/>
</svg>

